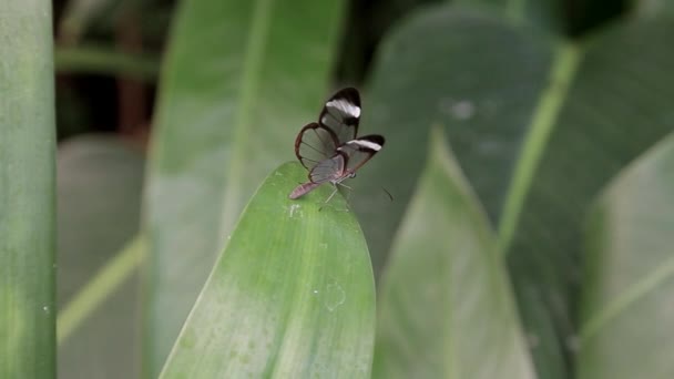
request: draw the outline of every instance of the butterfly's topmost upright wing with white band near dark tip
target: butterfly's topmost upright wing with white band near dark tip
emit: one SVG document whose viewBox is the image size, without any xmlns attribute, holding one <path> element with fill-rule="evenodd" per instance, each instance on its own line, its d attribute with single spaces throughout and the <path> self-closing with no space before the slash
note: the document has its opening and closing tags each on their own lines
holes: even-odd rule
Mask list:
<svg viewBox="0 0 674 379">
<path fill-rule="evenodd" d="M 360 94 L 354 88 L 337 91 L 323 106 L 318 123 L 330 129 L 338 145 L 356 139 L 360 121 Z"/>
</svg>

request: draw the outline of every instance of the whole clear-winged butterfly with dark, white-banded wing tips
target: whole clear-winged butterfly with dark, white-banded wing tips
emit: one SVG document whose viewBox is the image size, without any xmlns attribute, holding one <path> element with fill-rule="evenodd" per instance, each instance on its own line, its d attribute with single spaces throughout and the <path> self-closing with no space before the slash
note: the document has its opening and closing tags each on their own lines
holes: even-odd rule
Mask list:
<svg viewBox="0 0 674 379">
<path fill-rule="evenodd" d="M 324 105 L 318 123 L 304 126 L 295 140 L 295 155 L 309 171 L 309 182 L 300 184 L 290 198 L 298 198 L 319 185 L 330 182 L 335 192 L 343 181 L 356 176 L 356 171 L 384 146 L 378 134 L 356 137 L 360 121 L 358 90 L 347 88 L 335 93 Z"/>
</svg>

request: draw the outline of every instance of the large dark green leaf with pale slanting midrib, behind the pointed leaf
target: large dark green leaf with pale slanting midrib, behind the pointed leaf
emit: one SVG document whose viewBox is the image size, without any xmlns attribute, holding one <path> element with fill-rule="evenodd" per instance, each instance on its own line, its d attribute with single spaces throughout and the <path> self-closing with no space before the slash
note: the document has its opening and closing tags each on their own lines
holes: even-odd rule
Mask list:
<svg viewBox="0 0 674 379">
<path fill-rule="evenodd" d="M 404 22 L 384 43 L 364 105 L 364 127 L 388 137 L 355 183 L 375 269 L 422 166 L 428 125 L 439 122 L 499 231 L 539 376 L 568 377 L 582 217 L 672 127 L 672 33 L 674 23 L 652 19 L 560 43 L 449 6 Z M 396 196 L 385 208 L 372 206 L 381 185 Z"/>
</svg>

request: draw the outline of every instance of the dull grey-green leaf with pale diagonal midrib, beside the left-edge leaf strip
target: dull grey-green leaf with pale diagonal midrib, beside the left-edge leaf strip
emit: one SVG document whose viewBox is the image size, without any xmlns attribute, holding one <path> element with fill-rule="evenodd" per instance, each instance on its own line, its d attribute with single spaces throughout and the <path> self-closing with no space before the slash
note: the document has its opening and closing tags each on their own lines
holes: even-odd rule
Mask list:
<svg viewBox="0 0 674 379">
<path fill-rule="evenodd" d="M 58 154 L 59 377 L 135 378 L 139 255 L 120 250 L 139 233 L 143 154 L 111 134 L 68 140 Z"/>
</svg>

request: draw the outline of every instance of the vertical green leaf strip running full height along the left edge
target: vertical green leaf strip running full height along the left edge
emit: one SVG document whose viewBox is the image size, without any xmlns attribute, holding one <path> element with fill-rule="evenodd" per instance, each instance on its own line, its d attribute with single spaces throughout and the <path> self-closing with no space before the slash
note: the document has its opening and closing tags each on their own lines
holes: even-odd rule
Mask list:
<svg viewBox="0 0 674 379">
<path fill-rule="evenodd" d="M 0 378 L 55 376 L 51 17 L 0 3 Z"/>
</svg>

